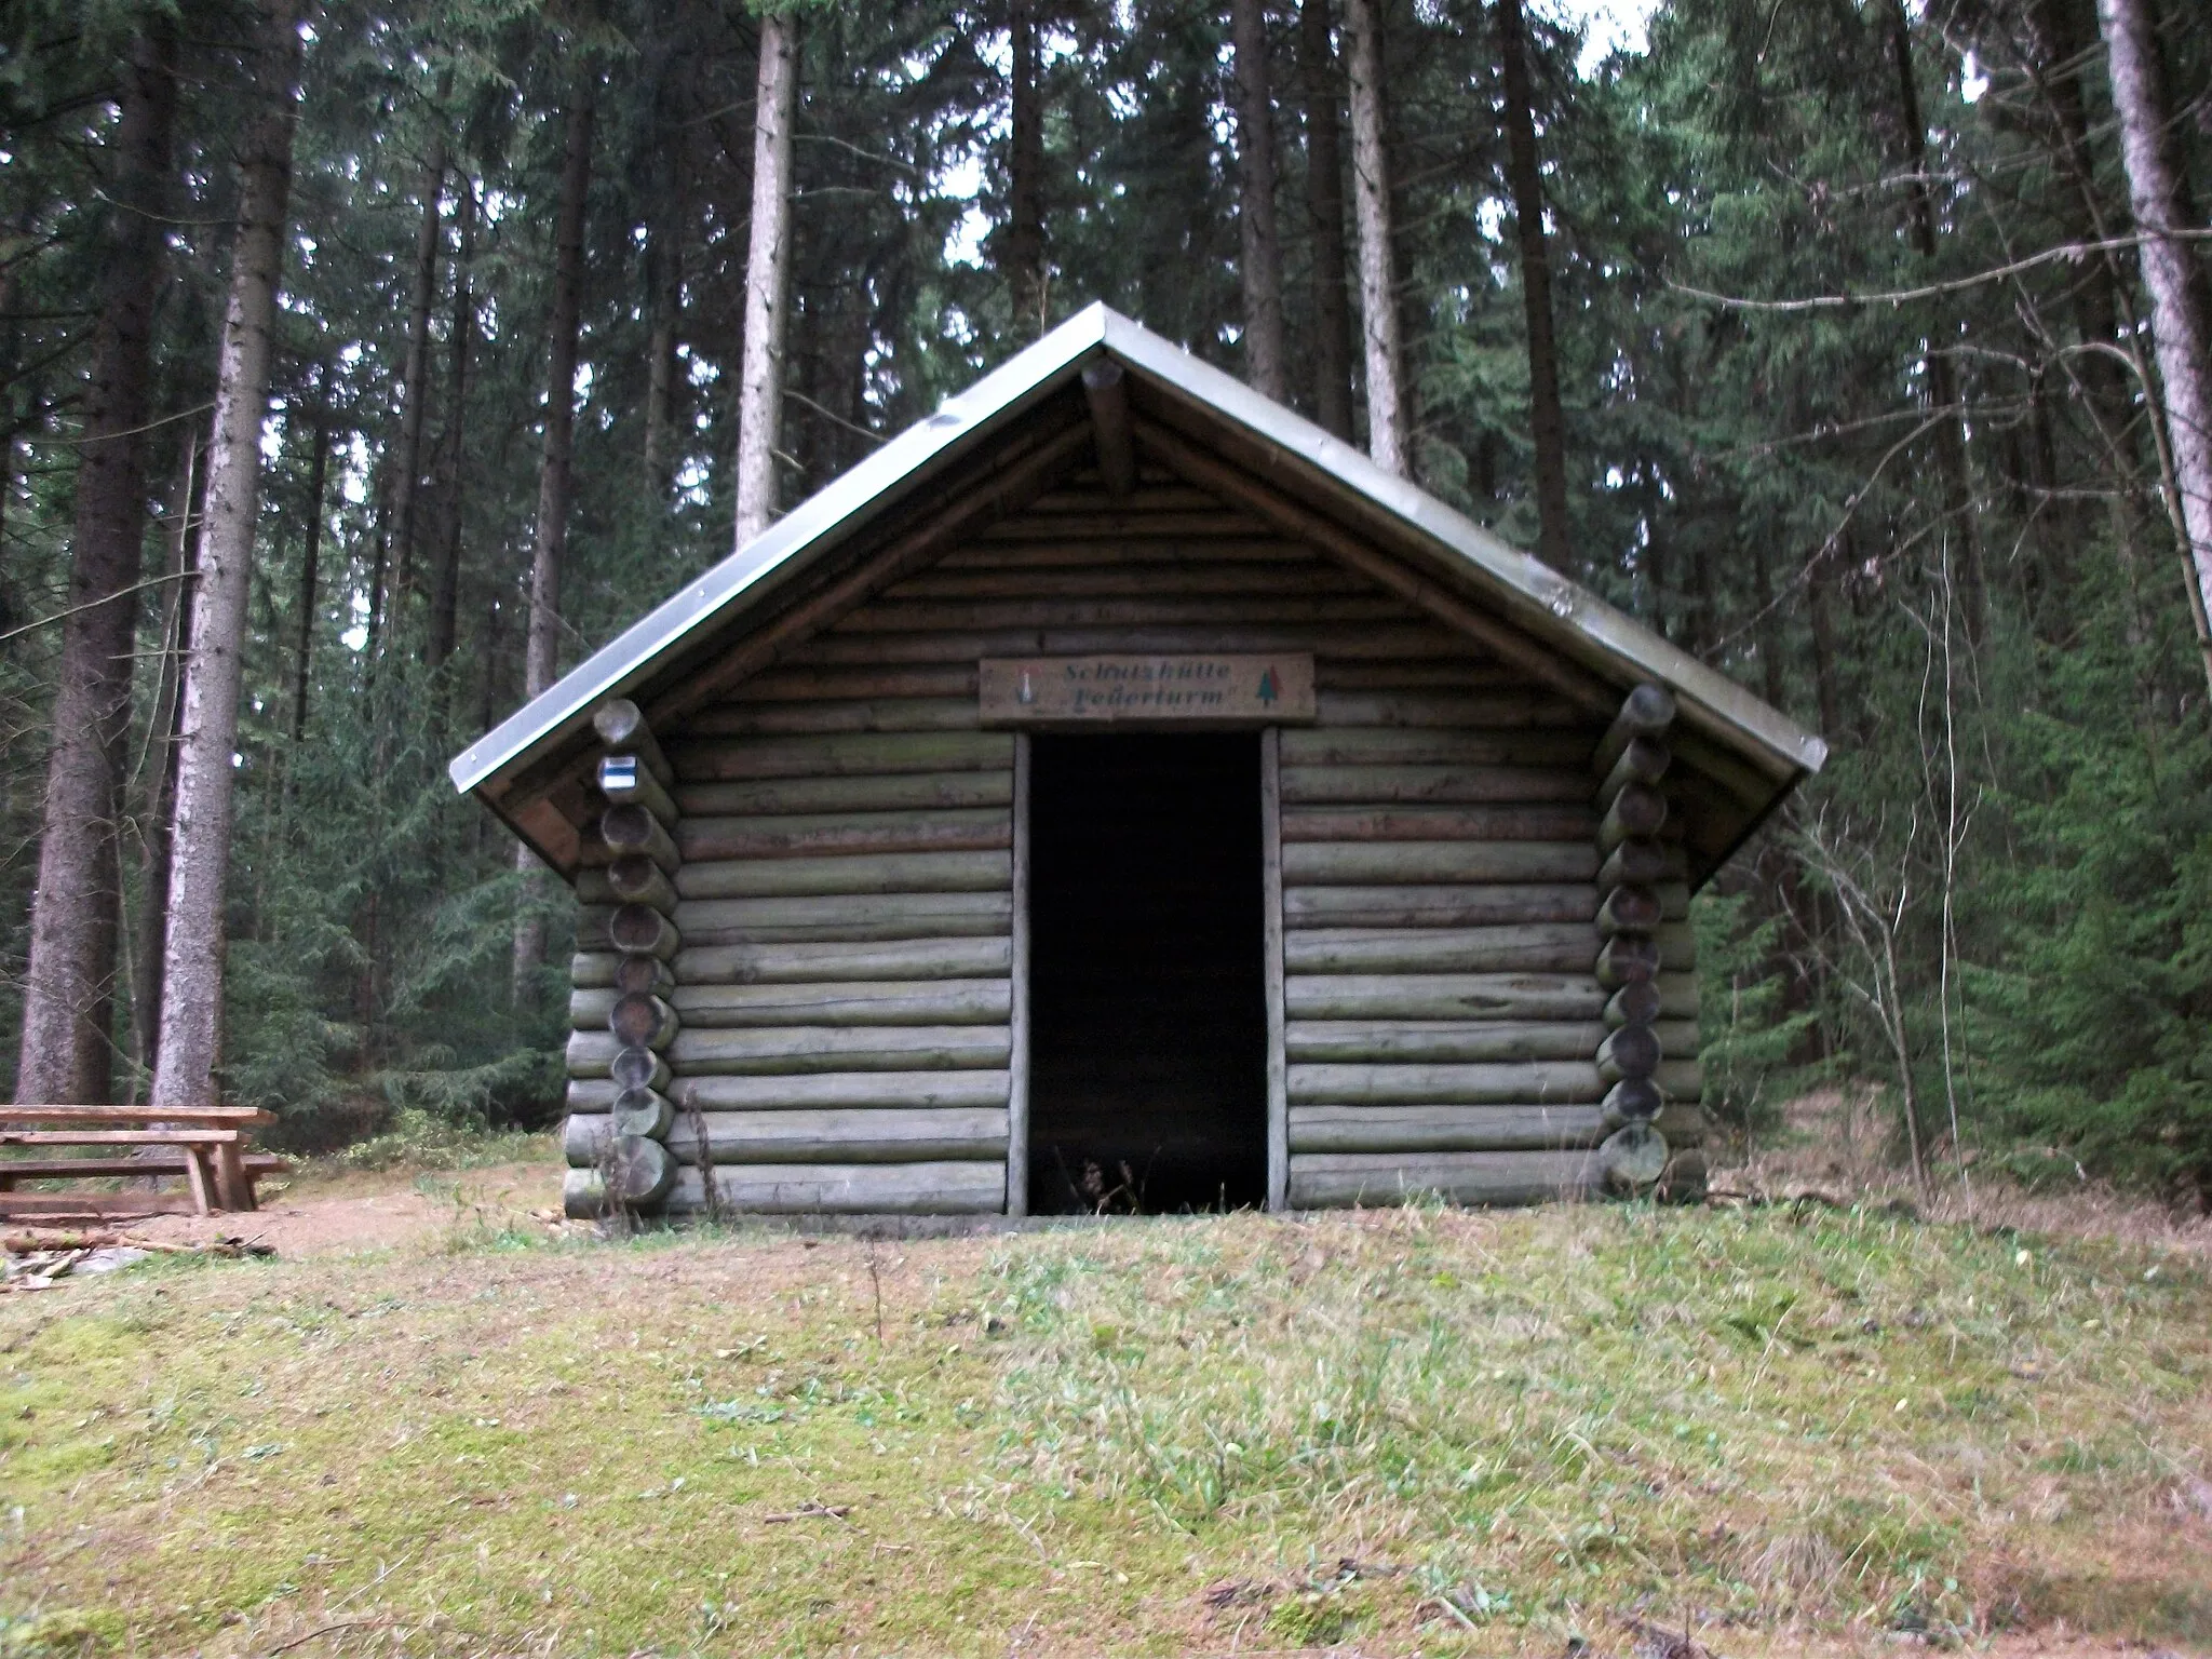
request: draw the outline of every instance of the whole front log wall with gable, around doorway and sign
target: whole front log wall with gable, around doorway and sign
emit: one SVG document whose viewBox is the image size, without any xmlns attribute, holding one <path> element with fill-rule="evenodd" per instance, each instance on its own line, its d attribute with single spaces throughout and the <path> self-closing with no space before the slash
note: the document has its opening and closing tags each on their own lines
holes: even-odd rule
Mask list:
<svg viewBox="0 0 2212 1659">
<path fill-rule="evenodd" d="M 1033 502 L 661 732 L 670 1208 L 1004 1208 L 1013 737 L 980 728 L 975 661 L 1146 650 L 1316 657 L 1318 719 L 1281 732 L 1290 1201 L 1586 1183 L 1606 1040 L 1590 717 L 1150 478 Z M 586 938 L 608 914 L 586 905 Z M 1694 1053 L 1674 1046 L 1697 1011 L 1679 918 L 1659 949 L 1668 1048 Z M 575 964 L 580 1177 L 611 1133 L 615 964 Z"/>
</svg>

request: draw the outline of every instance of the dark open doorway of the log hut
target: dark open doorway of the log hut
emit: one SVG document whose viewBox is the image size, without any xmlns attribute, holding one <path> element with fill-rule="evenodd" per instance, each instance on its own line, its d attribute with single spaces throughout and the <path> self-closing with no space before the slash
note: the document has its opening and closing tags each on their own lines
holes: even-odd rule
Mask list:
<svg viewBox="0 0 2212 1659">
<path fill-rule="evenodd" d="M 1031 743 L 1031 1212 L 1265 1203 L 1259 737 Z"/>
</svg>

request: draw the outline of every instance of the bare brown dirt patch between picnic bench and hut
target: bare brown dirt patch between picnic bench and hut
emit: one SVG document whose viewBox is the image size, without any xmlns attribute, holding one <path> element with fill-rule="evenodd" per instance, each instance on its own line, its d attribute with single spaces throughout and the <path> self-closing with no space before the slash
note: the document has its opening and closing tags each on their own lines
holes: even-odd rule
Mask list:
<svg viewBox="0 0 2212 1659">
<path fill-rule="evenodd" d="M 453 1175 L 303 1177 L 248 1214 L 164 1214 L 128 1232 L 164 1243 L 254 1239 L 279 1256 L 420 1250 L 456 1232 L 542 1228 L 560 1214 L 560 1168 L 502 1164 Z"/>
</svg>

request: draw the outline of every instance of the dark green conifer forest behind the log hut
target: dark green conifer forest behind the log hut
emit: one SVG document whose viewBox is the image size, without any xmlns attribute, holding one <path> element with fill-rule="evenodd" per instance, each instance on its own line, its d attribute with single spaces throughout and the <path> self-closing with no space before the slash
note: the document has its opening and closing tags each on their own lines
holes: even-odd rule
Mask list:
<svg viewBox="0 0 2212 1659">
<path fill-rule="evenodd" d="M 1409 471 L 1540 546 L 1511 33 L 1571 575 L 1834 748 L 1699 902 L 1708 1106 L 1756 1133 L 1803 1091 L 1876 1091 L 1916 1130 L 1900 1159 L 1913 1141 L 1936 1168 L 1971 1155 L 2203 1203 L 2208 670 L 2093 0 L 1668 0 L 1646 51 L 1610 55 L 1542 7 L 1378 11 Z M 1340 18 L 1259 13 L 1287 394 L 1318 414 L 1349 374 L 1365 434 L 1358 352 L 1345 369 L 1327 341 L 1332 292 L 1360 303 L 1336 263 L 1356 239 L 1349 126 L 1316 146 L 1343 113 Z M 18 0 L 0 18 L 9 1033 L 124 212 L 119 64 L 159 35 L 175 77 L 100 1011 L 126 1099 L 153 1053 L 175 595 L 201 533 L 259 13 Z M 794 22 L 783 504 L 1093 299 L 1250 372 L 1225 9 L 914 0 Z M 2150 22 L 2172 155 L 2212 190 L 2212 31 L 2192 0 Z M 442 765 L 524 692 L 557 201 L 586 97 L 562 666 L 730 549 L 759 40 L 757 13 L 706 0 L 307 15 L 221 1066 L 288 1144 L 560 1110 L 566 894 L 515 872 Z M 2201 301 L 2203 241 L 2190 257 Z M 549 951 L 518 978 L 529 907 Z"/>
</svg>

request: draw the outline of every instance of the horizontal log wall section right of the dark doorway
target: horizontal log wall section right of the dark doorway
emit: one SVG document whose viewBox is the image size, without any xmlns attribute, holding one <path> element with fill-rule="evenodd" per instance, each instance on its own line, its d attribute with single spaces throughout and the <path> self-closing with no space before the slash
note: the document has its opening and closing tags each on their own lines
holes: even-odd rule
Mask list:
<svg viewBox="0 0 2212 1659">
<path fill-rule="evenodd" d="M 1515 1203 L 1601 1181 L 1601 721 L 1491 664 L 1325 661 L 1283 732 L 1290 1203 Z M 1659 1015 L 1697 1053 L 1672 852 Z M 1690 1102 L 1697 1064 L 1663 1082 Z M 1670 1110 L 1677 1144 L 1701 1137 Z"/>
</svg>

